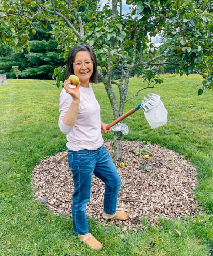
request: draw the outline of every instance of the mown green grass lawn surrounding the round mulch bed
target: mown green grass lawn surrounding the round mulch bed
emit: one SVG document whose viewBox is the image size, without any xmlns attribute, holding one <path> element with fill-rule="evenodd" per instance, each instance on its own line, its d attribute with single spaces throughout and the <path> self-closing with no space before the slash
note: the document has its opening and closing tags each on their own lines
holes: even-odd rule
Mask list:
<svg viewBox="0 0 213 256">
<path fill-rule="evenodd" d="M 124 112 L 154 92 L 168 110 L 168 123 L 152 130 L 143 111 L 124 121 L 129 134 L 123 140 L 146 140 L 165 146 L 187 158 L 197 168 L 199 184 L 194 194 L 202 213 L 190 218 L 159 218 L 158 226 L 121 237 L 119 227 L 104 228 L 89 219 L 89 231 L 102 242 L 102 251 L 92 251 L 72 232 L 71 219 L 56 216 L 31 192 L 32 170 L 43 158 L 66 149 L 66 136 L 58 127 L 61 87 L 49 80 L 8 80 L 0 87 L 0 256 L 208 256 L 213 245 L 213 93 L 197 96 L 202 78 L 170 77 L 156 88 L 129 100 Z M 128 97 L 144 84 L 131 78 Z M 92 85 L 101 106 L 101 119 L 113 121 L 103 84 Z M 116 96 L 118 88 L 113 85 Z M 103 135 L 112 140 L 113 133 Z M 174 231 L 177 229 L 181 236 Z"/>
</svg>

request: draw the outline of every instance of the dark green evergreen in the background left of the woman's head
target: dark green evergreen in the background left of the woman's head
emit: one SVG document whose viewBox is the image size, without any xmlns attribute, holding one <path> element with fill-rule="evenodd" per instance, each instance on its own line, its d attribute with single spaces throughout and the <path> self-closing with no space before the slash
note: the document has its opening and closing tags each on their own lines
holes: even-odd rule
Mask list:
<svg viewBox="0 0 213 256">
<path fill-rule="evenodd" d="M 36 28 L 36 35 L 30 34 L 30 52 L 14 53 L 11 45 L 2 45 L 0 49 L 0 73 L 7 78 L 16 78 L 12 72 L 12 66 L 19 66 L 22 78 L 52 79 L 53 70 L 64 64 L 59 59 L 61 50 L 57 49 L 57 43 L 46 34 L 51 29 L 48 25 Z"/>
</svg>

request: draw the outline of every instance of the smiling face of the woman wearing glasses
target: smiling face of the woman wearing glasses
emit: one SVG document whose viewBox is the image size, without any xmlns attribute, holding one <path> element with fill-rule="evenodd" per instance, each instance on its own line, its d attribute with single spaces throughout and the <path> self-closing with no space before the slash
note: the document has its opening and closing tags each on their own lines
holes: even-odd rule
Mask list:
<svg viewBox="0 0 213 256">
<path fill-rule="evenodd" d="M 91 57 L 90 57 L 90 53 L 87 52 L 87 51 L 78 51 L 76 54 L 75 54 L 75 58 L 73 60 L 73 63 L 76 63 L 76 62 L 81 62 L 83 63 L 83 66 L 80 67 L 79 66 L 76 66 L 73 64 L 73 70 L 74 70 L 74 74 L 77 75 L 77 77 L 79 78 L 79 80 L 81 82 L 88 82 L 89 83 L 89 80 L 90 80 L 90 77 L 93 73 L 93 64 L 91 65 L 91 67 L 86 67 L 85 66 L 85 62 L 86 61 L 91 61 Z"/>
</svg>

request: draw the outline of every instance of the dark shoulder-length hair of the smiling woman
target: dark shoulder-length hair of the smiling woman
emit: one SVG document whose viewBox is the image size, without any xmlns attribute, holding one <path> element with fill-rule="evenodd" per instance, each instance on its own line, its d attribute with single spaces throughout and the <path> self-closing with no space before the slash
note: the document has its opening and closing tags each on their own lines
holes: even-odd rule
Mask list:
<svg viewBox="0 0 213 256">
<path fill-rule="evenodd" d="M 66 79 L 69 78 L 70 75 L 74 75 L 74 70 L 73 70 L 73 61 L 75 58 L 75 54 L 78 51 L 85 51 L 85 52 L 89 52 L 90 57 L 93 61 L 93 73 L 90 77 L 90 82 L 91 83 L 97 83 L 97 60 L 96 60 L 96 56 L 95 53 L 93 51 L 93 49 L 91 48 L 91 46 L 89 44 L 83 43 L 82 45 L 76 45 L 73 48 L 71 48 L 69 54 L 68 54 L 68 58 L 67 58 L 67 63 L 66 63 Z"/>
</svg>

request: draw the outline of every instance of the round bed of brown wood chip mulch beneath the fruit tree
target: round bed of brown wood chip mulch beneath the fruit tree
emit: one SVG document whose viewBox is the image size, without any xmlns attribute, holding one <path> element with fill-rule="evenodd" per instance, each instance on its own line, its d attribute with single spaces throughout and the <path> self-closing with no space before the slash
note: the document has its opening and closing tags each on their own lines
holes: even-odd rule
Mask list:
<svg viewBox="0 0 213 256">
<path fill-rule="evenodd" d="M 158 145 L 150 145 L 153 155 L 145 159 L 144 155 L 136 156 L 135 150 L 147 145 L 138 141 L 123 141 L 121 161 L 113 158 L 113 147 L 110 141 L 103 143 L 121 177 L 121 189 L 118 195 L 117 210 L 130 214 L 129 220 L 122 222 L 102 218 L 104 183 L 95 175 L 92 181 L 91 198 L 87 204 L 87 216 L 101 220 L 103 225 L 123 224 L 137 230 L 143 225 L 140 218 L 146 215 L 153 224 L 158 216 L 167 218 L 193 216 L 199 212 L 198 203 L 193 197 L 197 184 L 196 168 L 178 153 Z M 32 192 L 35 200 L 41 200 L 57 213 L 71 216 L 72 194 L 74 191 L 72 173 L 68 158 L 57 162 L 67 151 L 43 159 L 33 170 Z M 171 161 L 167 158 L 171 157 Z M 148 168 L 146 170 L 146 168 Z M 143 228 L 143 227 L 142 227 Z"/>
</svg>

